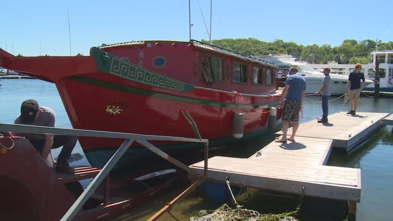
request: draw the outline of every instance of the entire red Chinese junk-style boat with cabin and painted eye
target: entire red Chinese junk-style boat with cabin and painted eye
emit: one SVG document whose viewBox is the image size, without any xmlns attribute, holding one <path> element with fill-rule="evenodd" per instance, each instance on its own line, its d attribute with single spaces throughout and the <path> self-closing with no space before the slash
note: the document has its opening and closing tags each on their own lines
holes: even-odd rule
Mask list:
<svg viewBox="0 0 393 221">
<path fill-rule="evenodd" d="M 194 40 L 102 45 L 90 56 L 23 57 L 0 49 L 0 66 L 54 83 L 76 129 L 180 137 L 199 132 L 212 146 L 260 135 L 281 118 L 273 63 Z M 90 164 L 103 167 L 124 140 L 79 141 Z M 167 153 L 195 147 L 152 143 Z M 147 153 L 133 144 L 119 164 Z"/>
</svg>

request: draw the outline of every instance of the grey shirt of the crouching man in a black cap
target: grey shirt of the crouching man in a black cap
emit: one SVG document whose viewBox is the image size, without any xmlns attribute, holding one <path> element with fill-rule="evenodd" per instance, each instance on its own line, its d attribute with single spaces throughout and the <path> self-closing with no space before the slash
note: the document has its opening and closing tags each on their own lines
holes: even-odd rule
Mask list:
<svg viewBox="0 0 393 221">
<path fill-rule="evenodd" d="M 32 123 L 22 123 L 21 115 L 19 114 L 14 123 L 15 124 L 24 124 L 24 125 L 35 125 L 35 126 L 48 126 L 55 127 L 56 126 L 56 115 L 54 111 L 50 107 L 39 107 L 40 113 L 38 113 L 37 119 Z M 40 140 L 45 139 L 45 134 L 36 134 L 36 133 L 14 133 L 16 136 L 24 136 L 28 140 Z"/>
</svg>

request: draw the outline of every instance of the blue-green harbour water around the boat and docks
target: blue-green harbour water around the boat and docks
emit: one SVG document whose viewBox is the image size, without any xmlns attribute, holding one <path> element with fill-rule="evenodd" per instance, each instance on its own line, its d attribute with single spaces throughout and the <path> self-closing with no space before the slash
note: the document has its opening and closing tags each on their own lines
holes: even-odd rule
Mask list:
<svg viewBox="0 0 393 221">
<path fill-rule="evenodd" d="M 0 121 L 13 123 L 19 114 L 20 105 L 26 99 L 35 99 L 41 106 L 49 106 L 56 113 L 56 126 L 72 128 L 64 106 L 58 95 L 56 87 L 52 83 L 31 79 L 4 79 L 0 87 Z M 322 108 L 318 103 L 319 97 L 307 96 L 303 103 L 303 118 L 300 122 L 315 120 L 321 116 Z M 332 97 L 331 100 L 337 97 Z M 357 112 L 383 112 L 393 113 L 392 98 L 379 98 L 374 100 L 369 97 L 361 97 Z M 329 102 L 330 114 L 339 111 L 348 111 L 349 103 L 344 104 L 343 98 Z M 301 125 L 300 125 L 301 126 Z M 323 133 L 323 131 L 320 131 Z M 345 131 L 343 131 L 345 132 Z M 226 149 L 211 152 L 210 156 L 220 155 L 229 157 L 249 157 L 273 140 L 273 133 L 266 134 L 258 139 L 242 143 L 241 145 L 227 146 Z M 388 125 L 376 132 L 357 151 L 349 156 L 333 152 L 328 165 L 340 167 L 361 168 L 362 192 L 361 202 L 357 205 L 357 220 L 391 220 L 390 212 L 393 208 L 393 134 L 392 126 Z M 52 156 L 56 157 L 60 149 L 52 150 Z M 73 154 L 83 155 L 80 144 L 77 143 Z M 72 162 L 71 165 L 88 165 L 86 158 Z M 87 185 L 82 183 L 84 186 Z M 156 211 L 161 209 L 166 202 L 171 201 L 177 194 L 182 192 L 189 183 L 181 183 L 173 187 L 167 193 L 156 197 L 145 204 L 139 205 L 114 220 L 146 220 Z M 242 194 L 238 202 L 248 209 L 260 212 L 284 212 L 294 209 L 298 203 L 296 196 L 267 193 L 260 190 L 249 189 Z M 220 204 L 208 202 L 191 193 L 173 206 L 171 212 L 181 220 L 187 220 L 195 211 L 200 209 L 216 209 Z M 165 213 L 159 220 L 173 220 Z"/>
</svg>

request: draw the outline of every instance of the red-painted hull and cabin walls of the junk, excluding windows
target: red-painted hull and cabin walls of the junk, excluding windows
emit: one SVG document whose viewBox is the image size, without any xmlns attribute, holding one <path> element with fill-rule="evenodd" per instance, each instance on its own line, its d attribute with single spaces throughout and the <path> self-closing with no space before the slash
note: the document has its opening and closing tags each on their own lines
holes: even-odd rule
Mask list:
<svg viewBox="0 0 393 221">
<path fill-rule="evenodd" d="M 137 42 L 103 47 L 102 50 L 121 59 L 125 57 L 131 63 L 143 63 L 144 68 L 159 73 L 154 72 L 156 76 L 165 75 L 165 78 L 169 76 L 191 84 L 189 91 L 156 87 L 99 70 L 100 58 L 97 60 L 93 56 L 15 57 L 3 51 L 0 66 L 55 83 L 71 123 L 78 129 L 195 137 L 182 115 L 182 111 L 188 111 L 201 137 L 209 139 L 211 146 L 235 140 L 232 137 L 235 113 L 244 114 L 244 137 L 268 130 L 269 111 L 277 107 L 281 95 L 275 92 L 274 80 L 271 85 L 253 85 L 249 77 L 247 84 L 234 84 L 227 72 L 229 79 L 226 83 L 208 84 L 202 80 L 199 62 L 200 53 L 209 54 L 211 51 L 204 52 L 204 47 L 192 46 L 189 42 L 158 42 L 154 45 L 156 48 L 151 43 Z M 165 58 L 165 67 L 147 62 L 156 59 L 157 54 Z M 228 65 L 241 58 L 229 55 L 223 58 Z M 250 70 L 251 61 L 247 61 Z M 266 68 L 272 68 L 274 75 L 273 67 Z M 281 109 L 277 109 L 277 115 L 273 117 L 280 119 Z M 79 141 L 89 162 L 96 167 L 102 167 L 110 153 L 123 142 L 121 139 L 94 137 L 80 137 Z M 169 145 L 174 143 L 168 141 L 154 144 L 168 150 L 186 148 L 180 143 Z M 136 153 L 141 148 L 134 146 L 132 149 L 134 158 L 138 159 Z"/>
</svg>

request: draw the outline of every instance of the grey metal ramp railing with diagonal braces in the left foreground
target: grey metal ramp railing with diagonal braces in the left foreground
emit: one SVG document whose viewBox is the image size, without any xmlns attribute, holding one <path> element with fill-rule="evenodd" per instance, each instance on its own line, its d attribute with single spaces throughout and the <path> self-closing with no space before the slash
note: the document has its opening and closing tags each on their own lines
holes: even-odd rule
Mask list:
<svg viewBox="0 0 393 221">
<path fill-rule="evenodd" d="M 184 113 L 183 113 L 184 114 Z M 189 116 L 190 117 L 190 116 Z M 187 118 L 187 117 L 186 117 Z M 190 118 L 192 119 L 192 118 Z M 187 119 L 189 120 L 189 119 Z M 191 120 L 193 122 L 193 120 Z M 190 122 L 191 123 L 191 122 Z M 193 130 L 195 135 L 199 135 L 198 128 L 193 122 Z M 118 162 L 118 160 L 123 156 L 123 154 L 127 151 L 129 146 L 133 142 L 138 142 L 143 145 L 148 150 L 152 151 L 156 155 L 164 158 L 165 160 L 175 164 L 181 169 L 187 171 L 188 173 L 194 175 L 195 177 L 199 177 L 199 180 L 193 182 L 190 187 L 180 193 L 177 197 L 175 197 L 171 202 L 165 205 L 160 211 L 154 214 L 149 220 L 156 220 L 158 217 L 162 215 L 169 207 L 180 200 L 187 193 L 197 188 L 200 184 L 202 184 L 207 179 L 207 160 L 208 160 L 208 148 L 209 148 L 209 140 L 202 138 L 186 138 L 186 137 L 173 137 L 173 136 L 159 136 L 159 135 L 143 135 L 136 133 L 121 133 L 121 132 L 110 132 L 110 131 L 98 131 L 98 130 L 83 130 L 83 129 L 65 129 L 65 128 L 56 128 L 56 127 L 46 127 L 46 126 L 31 126 L 31 125 L 19 125 L 19 124 L 6 124 L 0 123 L 0 131 L 13 131 L 20 133 L 46 133 L 46 134 L 61 134 L 61 135 L 72 135 L 72 136 L 92 136 L 92 137 L 107 137 L 107 138 L 124 138 L 125 141 L 119 146 L 117 151 L 113 154 L 113 156 L 109 159 L 109 161 L 105 164 L 105 166 L 101 169 L 101 171 L 94 177 L 94 179 L 90 182 L 90 184 L 86 187 L 83 193 L 78 197 L 78 199 L 74 202 L 74 204 L 69 208 L 69 210 L 64 214 L 64 216 L 60 219 L 61 221 L 71 221 L 78 211 L 82 208 L 83 204 L 87 201 L 87 199 L 94 193 L 100 183 L 105 179 L 105 177 L 112 170 L 114 165 Z M 197 133 L 198 132 L 198 133 Z M 184 165 L 180 161 L 172 158 L 167 155 L 165 152 L 158 149 L 148 140 L 166 140 L 166 141 L 183 141 L 183 142 L 201 142 L 205 143 L 205 171 L 204 175 L 200 175 L 199 173 L 188 168 L 187 165 Z"/>
</svg>

